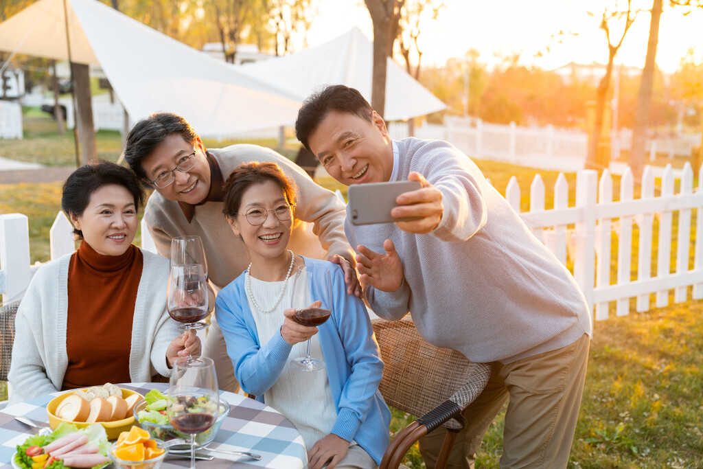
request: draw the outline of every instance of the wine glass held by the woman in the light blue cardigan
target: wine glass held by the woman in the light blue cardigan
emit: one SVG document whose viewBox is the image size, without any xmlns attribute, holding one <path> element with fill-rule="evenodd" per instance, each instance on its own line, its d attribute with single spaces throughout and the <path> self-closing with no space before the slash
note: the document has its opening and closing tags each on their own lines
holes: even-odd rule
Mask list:
<svg viewBox="0 0 703 469">
<path fill-rule="evenodd" d="M 325 266 L 299 266 L 293 281 L 293 320 L 303 326 L 319 326 L 327 321 L 332 312 L 332 278 Z M 325 368 L 323 359 L 310 356 L 310 340 L 307 341 L 306 356 L 292 359 L 290 366 L 302 371 Z"/>
</svg>

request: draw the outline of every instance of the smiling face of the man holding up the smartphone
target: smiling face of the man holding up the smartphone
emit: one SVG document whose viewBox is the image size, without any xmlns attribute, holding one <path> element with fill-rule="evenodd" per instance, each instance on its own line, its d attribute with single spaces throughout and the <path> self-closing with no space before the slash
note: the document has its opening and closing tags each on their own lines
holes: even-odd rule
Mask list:
<svg viewBox="0 0 703 469">
<path fill-rule="evenodd" d="M 308 145 L 330 176 L 346 186 L 385 182 L 393 172 L 393 147 L 386 124 L 330 110 L 308 136 Z"/>
</svg>

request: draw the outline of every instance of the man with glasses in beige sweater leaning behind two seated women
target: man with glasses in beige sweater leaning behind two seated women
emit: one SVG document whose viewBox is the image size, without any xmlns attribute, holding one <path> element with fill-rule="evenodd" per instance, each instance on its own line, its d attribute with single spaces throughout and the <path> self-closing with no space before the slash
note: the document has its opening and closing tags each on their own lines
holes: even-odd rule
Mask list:
<svg viewBox="0 0 703 469">
<path fill-rule="evenodd" d="M 275 151 L 255 145 L 206 150 L 183 117 L 155 113 L 129 131 L 124 158 L 132 171 L 155 189 L 144 210 L 144 219 L 159 254 L 169 257 L 171 238 L 176 236 L 202 238 L 207 278 L 214 290 L 211 309 L 214 293 L 237 278 L 249 264 L 242 241 L 232 233 L 222 213 L 224 181 L 233 169 L 247 161 L 275 162 L 295 181 L 299 202 L 291 249 L 296 254 L 340 264 L 348 293 L 361 295 L 354 271 L 354 251 L 344 236 L 344 205 L 334 193 L 315 184 L 302 169 Z M 236 392 L 239 386 L 214 316 L 202 355 L 214 359 L 219 387 Z"/>
</svg>

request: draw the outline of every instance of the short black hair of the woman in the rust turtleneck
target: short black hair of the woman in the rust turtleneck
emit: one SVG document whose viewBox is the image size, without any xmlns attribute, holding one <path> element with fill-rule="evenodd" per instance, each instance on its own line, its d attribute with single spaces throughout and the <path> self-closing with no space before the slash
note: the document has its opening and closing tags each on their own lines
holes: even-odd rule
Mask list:
<svg viewBox="0 0 703 469">
<path fill-rule="evenodd" d="M 129 168 L 104 160 L 91 161 L 68 176 L 61 191 L 61 208 L 69 217 L 71 214 L 82 216 L 93 192 L 108 184 L 126 188 L 134 196 L 134 207 L 139 210 L 144 200 L 144 191 L 134 173 Z M 83 238 L 82 231 L 73 229 L 73 233 Z"/>
</svg>

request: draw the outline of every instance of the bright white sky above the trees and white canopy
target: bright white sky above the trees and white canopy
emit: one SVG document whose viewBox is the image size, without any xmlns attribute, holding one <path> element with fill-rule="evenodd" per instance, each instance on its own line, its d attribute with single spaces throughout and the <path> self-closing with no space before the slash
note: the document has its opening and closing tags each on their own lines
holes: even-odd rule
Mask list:
<svg viewBox="0 0 703 469">
<path fill-rule="evenodd" d="M 309 46 L 322 44 L 355 26 L 369 39 L 373 38 L 373 25 L 363 0 L 318 1 L 318 16 L 307 32 Z M 514 53 L 520 53 L 522 65 L 546 70 L 572 61 L 607 63 L 607 40 L 598 25 L 605 6 L 612 8 L 615 3 L 615 0 L 444 0 L 445 8 L 439 18 L 436 21 L 426 18 L 422 23 L 419 42 L 423 63 L 444 65 L 448 58 L 464 56 L 468 49 L 477 49 L 479 62 L 489 68 L 500 63 L 501 57 Z M 651 8 L 652 1 L 634 0 L 633 4 Z M 588 11 L 595 16 L 588 16 Z M 674 72 L 691 47 L 695 48 L 697 62 L 703 60 L 703 8 L 688 16 L 683 16 L 682 11 L 683 8 L 669 8 L 664 1 L 657 48 L 657 65 L 664 72 Z M 615 58 L 616 64 L 643 67 L 649 27 L 650 14 L 639 13 Z M 619 28 L 612 31 L 612 41 L 619 40 Z M 559 36 L 560 31 L 567 34 Z M 538 53 L 542 56 L 538 57 Z"/>
</svg>

